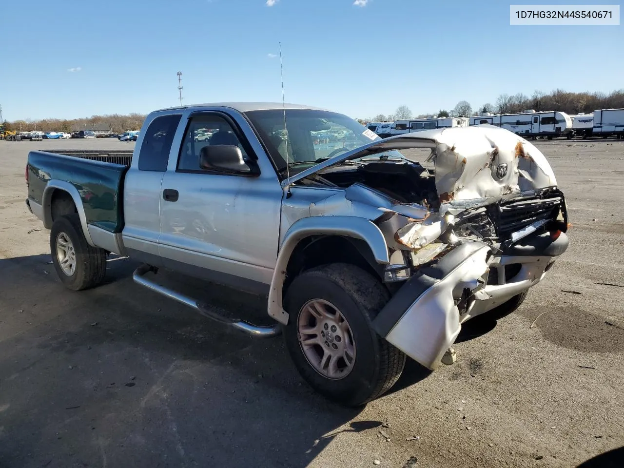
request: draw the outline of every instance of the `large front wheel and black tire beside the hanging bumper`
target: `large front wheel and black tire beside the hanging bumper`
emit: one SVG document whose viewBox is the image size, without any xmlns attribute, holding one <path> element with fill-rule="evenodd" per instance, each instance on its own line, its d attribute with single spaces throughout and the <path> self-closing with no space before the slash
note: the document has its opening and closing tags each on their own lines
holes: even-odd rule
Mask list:
<svg viewBox="0 0 624 468">
<path fill-rule="evenodd" d="M 372 321 L 388 291 L 361 268 L 333 263 L 305 271 L 288 288 L 286 347 L 301 376 L 323 396 L 359 406 L 401 376 L 406 356 Z"/>
</svg>

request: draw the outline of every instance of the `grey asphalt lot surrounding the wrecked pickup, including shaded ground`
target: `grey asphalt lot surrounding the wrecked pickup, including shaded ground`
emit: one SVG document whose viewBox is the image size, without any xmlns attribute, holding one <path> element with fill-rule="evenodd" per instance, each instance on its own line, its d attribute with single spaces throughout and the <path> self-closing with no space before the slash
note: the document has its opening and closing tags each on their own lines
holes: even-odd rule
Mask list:
<svg viewBox="0 0 624 468">
<path fill-rule="evenodd" d="M 135 286 L 131 260 L 94 290 L 61 286 L 24 205 L 27 152 L 132 145 L 0 142 L 1 467 L 572 467 L 624 446 L 622 142 L 537 143 L 567 195 L 567 253 L 515 313 L 467 323 L 456 364 L 408 363 L 361 409 L 311 391 L 281 338 Z M 202 293 L 264 314 L 261 298 Z M 622 466 L 610 455 L 599 466 Z"/>
</svg>

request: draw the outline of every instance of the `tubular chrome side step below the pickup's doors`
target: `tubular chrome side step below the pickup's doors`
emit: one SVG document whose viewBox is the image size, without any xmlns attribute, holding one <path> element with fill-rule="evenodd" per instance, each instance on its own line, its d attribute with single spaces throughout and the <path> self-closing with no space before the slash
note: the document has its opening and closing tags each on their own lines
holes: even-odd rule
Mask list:
<svg viewBox="0 0 624 468">
<path fill-rule="evenodd" d="M 270 326 L 256 326 L 240 319 L 229 319 L 221 316 L 210 310 L 210 308 L 205 304 L 202 304 L 192 298 L 189 298 L 188 296 L 184 296 L 180 293 L 170 290 L 169 288 L 165 288 L 165 286 L 161 286 L 154 281 L 148 280 L 147 278 L 145 278 L 145 275 L 147 273 L 150 273 L 150 271 L 155 273 L 157 271 L 157 268 L 154 268 L 150 265 L 141 265 L 139 266 L 139 268 L 134 270 L 134 273 L 132 273 L 132 280 L 134 280 L 135 283 L 138 283 L 141 286 L 145 286 L 145 288 L 148 288 L 152 291 L 155 291 L 156 293 L 162 294 L 163 296 L 173 299 L 174 301 L 178 301 L 179 303 L 193 308 L 195 311 L 199 312 L 207 318 L 232 326 L 232 328 L 236 328 L 251 336 L 262 337 L 276 336 L 280 334 L 279 324 Z"/>
</svg>

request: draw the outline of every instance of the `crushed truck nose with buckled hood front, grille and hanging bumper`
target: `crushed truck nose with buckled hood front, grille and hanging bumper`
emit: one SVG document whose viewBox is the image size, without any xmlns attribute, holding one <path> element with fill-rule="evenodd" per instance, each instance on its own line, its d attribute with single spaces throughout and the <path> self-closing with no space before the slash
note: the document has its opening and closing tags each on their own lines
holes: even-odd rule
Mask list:
<svg viewBox="0 0 624 468">
<path fill-rule="evenodd" d="M 568 246 L 565 198 L 544 155 L 506 130 L 470 130 L 437 135 L 439 205 L 399 223 L 389 245 L 412 274 L 373 322 L 429 369 L 462 323 L 539 283 Z"/>
</svg>

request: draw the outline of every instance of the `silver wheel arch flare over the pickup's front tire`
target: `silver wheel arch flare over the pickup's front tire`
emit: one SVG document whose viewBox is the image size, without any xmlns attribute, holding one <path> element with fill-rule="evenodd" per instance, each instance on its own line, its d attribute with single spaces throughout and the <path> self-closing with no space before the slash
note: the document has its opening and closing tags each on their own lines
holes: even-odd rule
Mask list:
<svg viewBox="0 0 624 468">
<path fill-rule="evenodd" d="M 281 241 L 271 288 L 268 297 L 268 314 L 278 322 L 288 323 L 288 313 L 283 308 L 284 286 L 289 274 L 293 273 L 293 263 L 297 261 L 293 253 L 301 252 L 316 241 L 328 239 L 347 242 L 352 245 L 368 264 L 370 270 L 377 271 L 376 265 L 388 265 L 388 245 L 386 239 L 373 222 L 351 216 L 308 217 L 295 222 Z M 344 261 L 336 258 L 335 261 Z M 333 263 L 333 262 L 330 262 Z M 357 264 L 357 263 L 356 263 Z M 364 265 L 364 263 L 361 263 Z"/>
</svg>

